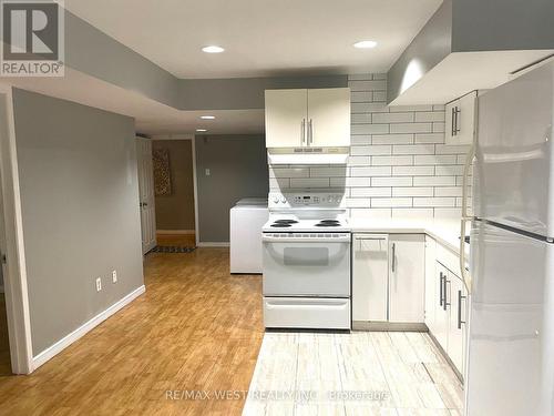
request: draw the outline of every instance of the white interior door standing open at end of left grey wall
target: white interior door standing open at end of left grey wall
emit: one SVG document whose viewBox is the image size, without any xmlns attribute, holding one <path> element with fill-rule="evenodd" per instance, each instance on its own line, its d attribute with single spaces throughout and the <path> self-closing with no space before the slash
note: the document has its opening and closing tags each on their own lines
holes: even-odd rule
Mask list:
<svg viewBox="0 0 554 416">
<path fill-rule="evenodd" d="M 136 139 L 136 165 L 138 168 L 142 251 L 143 254 L 146 254 L 156 246 L 154 169 L 152 163 L 152 141 L 150 139 Z"/>
</svg>

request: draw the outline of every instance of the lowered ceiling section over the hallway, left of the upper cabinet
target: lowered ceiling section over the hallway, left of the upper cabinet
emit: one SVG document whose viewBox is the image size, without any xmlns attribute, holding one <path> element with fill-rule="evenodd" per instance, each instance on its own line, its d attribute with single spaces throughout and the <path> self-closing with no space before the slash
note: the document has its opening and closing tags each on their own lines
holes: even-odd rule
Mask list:
<svg viewBox="0 0 554 416">
<path fill-rule="evenodd" d="M 197 128 L 207 129 L 204 134 L 264 132 L 264 110 L 181 111 L 70 68 L 63 78 L 4 78 L 0 84 L 133 116 L 136 131 L 145 134 L 195 133 Z"/>
</svg>

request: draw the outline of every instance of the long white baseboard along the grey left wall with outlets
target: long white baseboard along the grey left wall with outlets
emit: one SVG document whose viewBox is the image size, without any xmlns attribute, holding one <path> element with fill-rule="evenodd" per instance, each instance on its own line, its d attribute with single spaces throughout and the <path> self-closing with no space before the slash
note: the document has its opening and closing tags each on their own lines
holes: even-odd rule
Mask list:
<svg viewBox="0 0 554 416">
<path fill-rule="evenodd" d="M 32 371 L 34 372 L 37 368 L 39 368 L 42 364 L 48 362 L 50 358 L 53 358 L 55 355 L 61 353 L 63 349 L 69 347 L 71 344 L 73 344 L 75 341 L 81 338 L 83 335 L 85 335 L 89 331 L 93 329 L 95 326 L 100 325 L 102 322 L 107 319 L 110 316 L 115 314 L 117 311 L 120 311 L 123 306 L 130 304 L 133 302 L 136 297 L 142 295 L 146 291 L 146 287 L 144 285 L 135 288 L 133 292 L 131 292 L 129 295 L 123 297 L 122 300 L 117 301 L 114 303 L 112 306 L 110 306 L 107 310 L 101 312 L 96 316 L 94 316 L 92 319 L 85 322 L 83 325 L 78 327 L 75 331 L 72 333 L 65 335 L 63 338 L 58 341 L 55 344 L 52 346 L 48 347 L 43 352 L 39 353 L 35 357 L 32 359 Z"/>
</svg>

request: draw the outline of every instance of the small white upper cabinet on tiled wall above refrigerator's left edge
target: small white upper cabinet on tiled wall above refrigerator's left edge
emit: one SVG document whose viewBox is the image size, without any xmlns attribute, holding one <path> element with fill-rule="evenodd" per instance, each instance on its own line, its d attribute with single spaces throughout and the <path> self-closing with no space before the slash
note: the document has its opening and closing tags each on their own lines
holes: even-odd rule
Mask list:
<svg viewBox="0 0 554 416">
<path fill-rule="evenodd" d="M 447 144 L 471 144 L 475 134 L 475 103 L 478 92 L 459 98 L 447 104 Z"/>
</svg>

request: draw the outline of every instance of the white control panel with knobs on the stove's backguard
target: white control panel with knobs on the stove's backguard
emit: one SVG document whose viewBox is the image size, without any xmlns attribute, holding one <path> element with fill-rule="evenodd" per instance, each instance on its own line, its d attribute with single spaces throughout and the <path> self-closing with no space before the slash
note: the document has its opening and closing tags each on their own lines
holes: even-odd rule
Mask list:
<svg viewBox="0 0 554 416">
<path fill-rule="evenodd" d="M 343 209 L 345 194 L 339 192 L 269 193 L 270 209 L 327 207 Z"/>
</svg>

